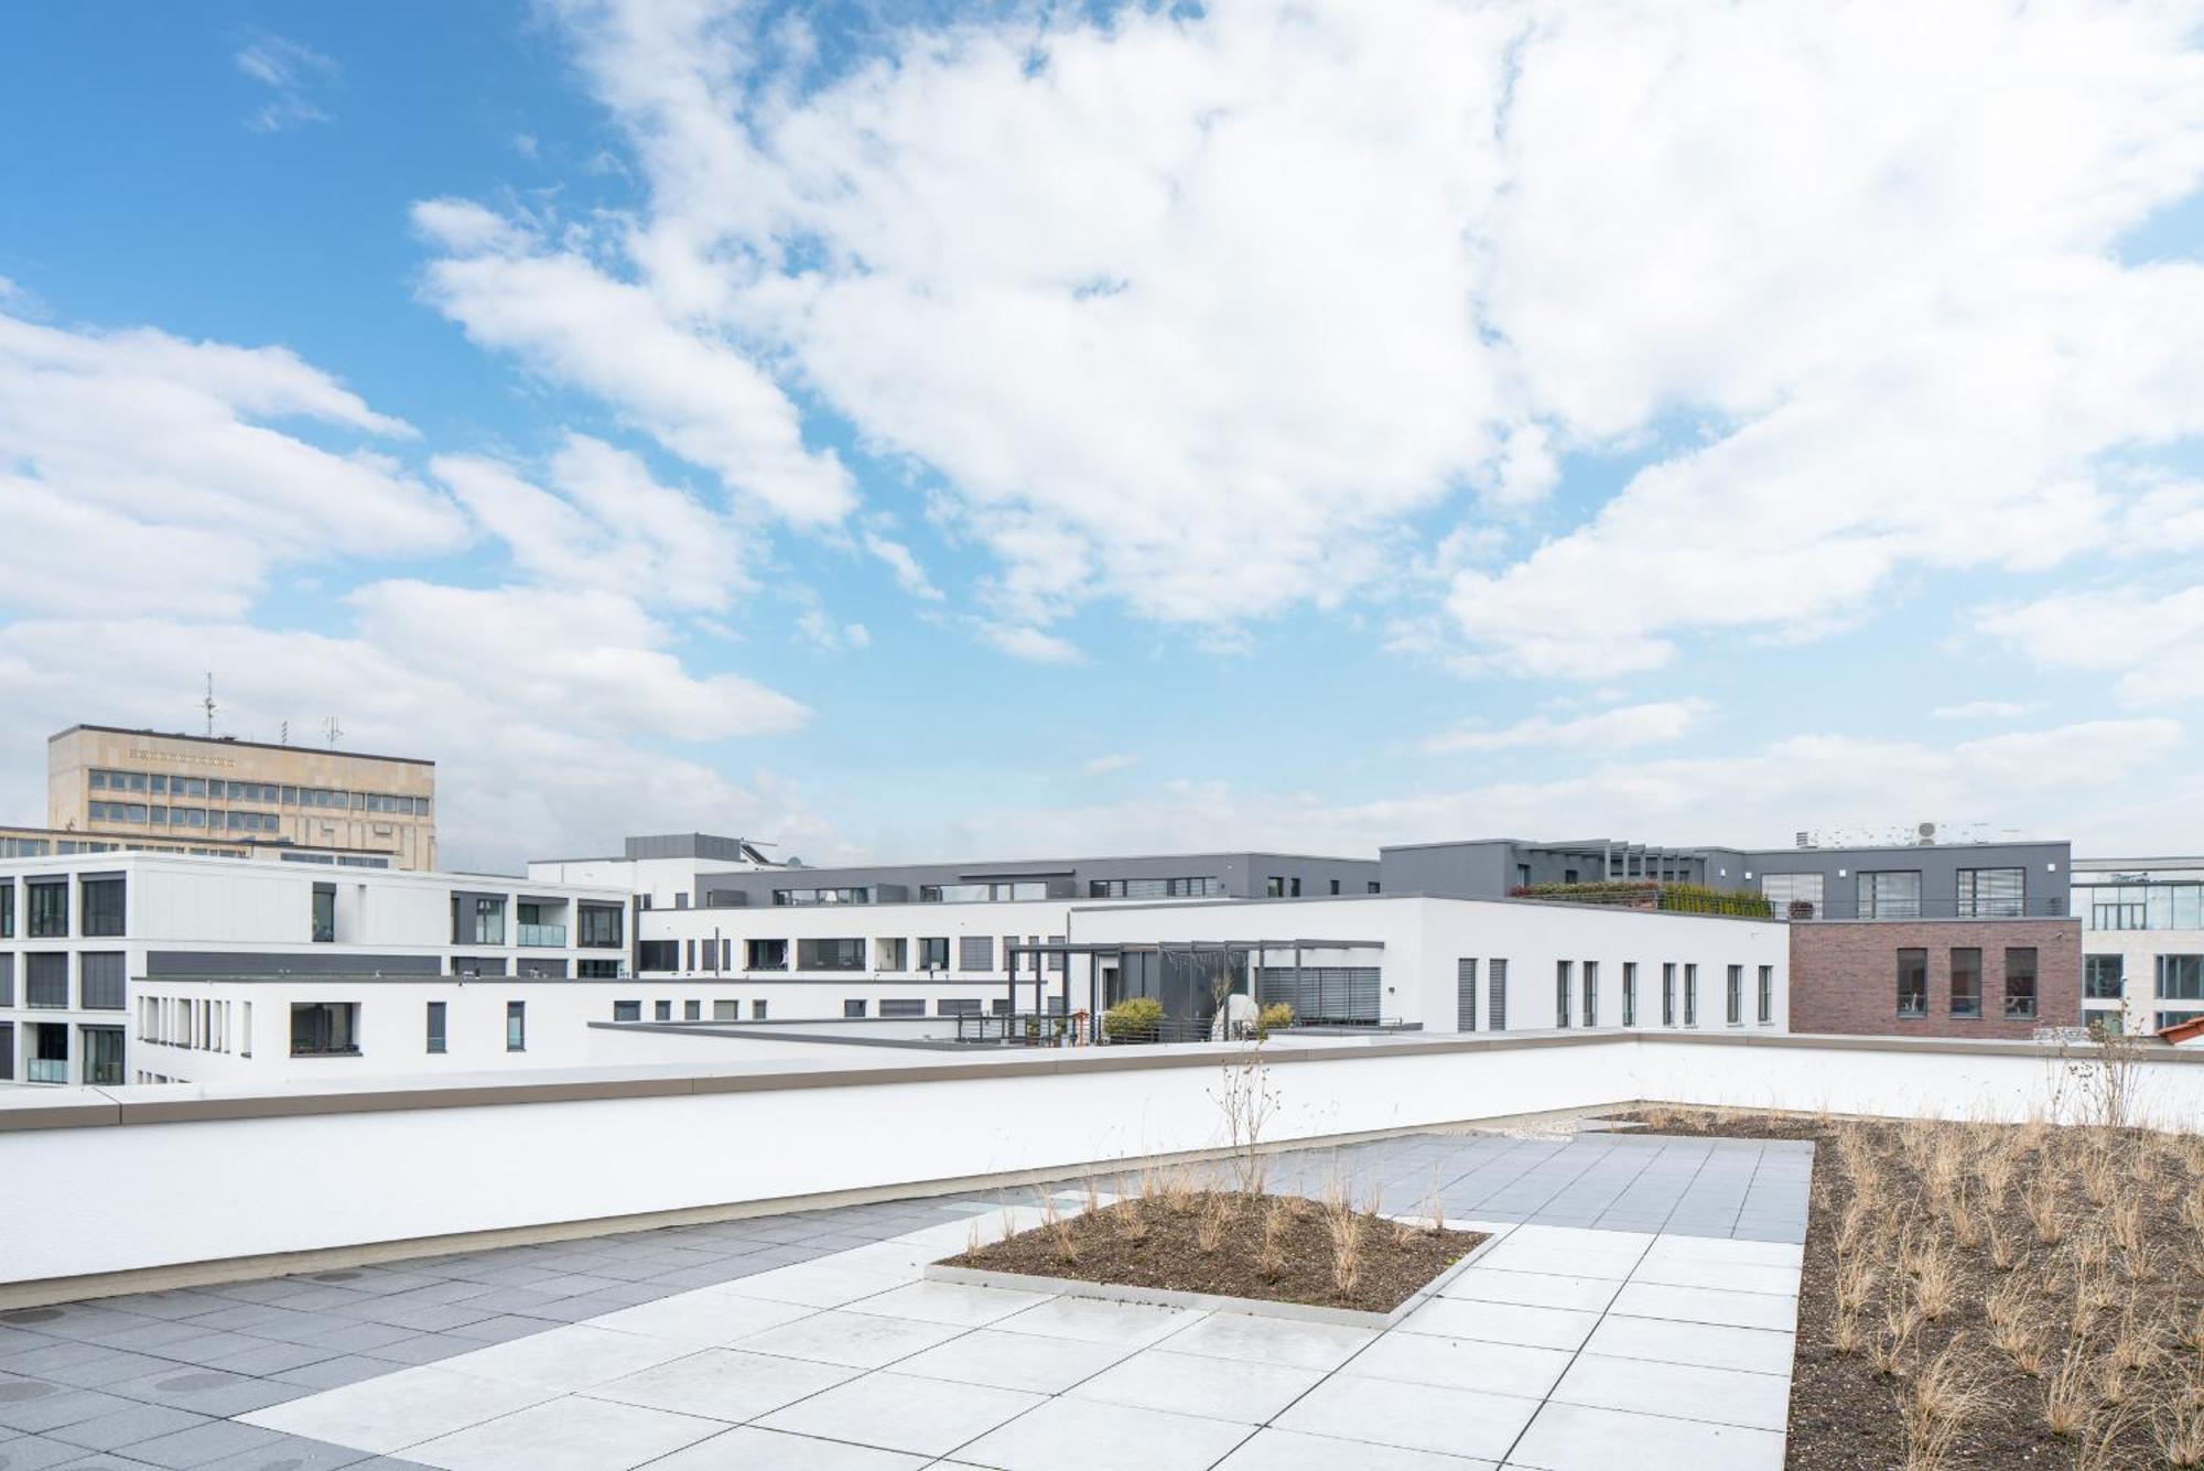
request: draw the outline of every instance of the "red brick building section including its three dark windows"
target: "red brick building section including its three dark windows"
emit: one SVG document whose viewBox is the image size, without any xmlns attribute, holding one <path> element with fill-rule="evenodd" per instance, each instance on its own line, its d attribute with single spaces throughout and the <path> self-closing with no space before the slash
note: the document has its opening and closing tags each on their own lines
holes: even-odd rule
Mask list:
<svg viewBox="0 0 2204 1471">
<path fill-rule="evenodd" d="M 2025 1039 L 2081 1026 L 2081 923 L 1801 920 L 1790 1004 L 1798 1033 Z"/>
</svg>

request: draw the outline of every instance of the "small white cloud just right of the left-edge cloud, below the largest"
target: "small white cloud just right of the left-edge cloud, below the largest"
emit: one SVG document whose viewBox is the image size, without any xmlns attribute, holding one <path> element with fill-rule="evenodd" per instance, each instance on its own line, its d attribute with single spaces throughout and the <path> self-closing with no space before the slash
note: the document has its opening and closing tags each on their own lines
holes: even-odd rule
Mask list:
<svg viewBox="0 0 2204 1471">
<path fill-rule="evenodd" d="M 569 434 L 544 467 L 553 489 L 483 456 L 436 456 L 430 469 L 531 579 L 710 612 L 752 586 L 752 548 L 725 513 L 604 440 Z"/>
</svg>

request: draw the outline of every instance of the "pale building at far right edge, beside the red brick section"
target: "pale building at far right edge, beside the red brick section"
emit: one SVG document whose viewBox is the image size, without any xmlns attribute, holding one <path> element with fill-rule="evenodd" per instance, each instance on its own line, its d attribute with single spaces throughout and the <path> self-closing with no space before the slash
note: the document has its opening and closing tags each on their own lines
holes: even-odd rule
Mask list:
<svg viewBox="0 0 2204 1471">
<path fill-rule="evenodd" d="M 2204 857 L 2076 859 L 2081 1004 L 2107 1031 L 2204 1017 Z"/>
</svg>

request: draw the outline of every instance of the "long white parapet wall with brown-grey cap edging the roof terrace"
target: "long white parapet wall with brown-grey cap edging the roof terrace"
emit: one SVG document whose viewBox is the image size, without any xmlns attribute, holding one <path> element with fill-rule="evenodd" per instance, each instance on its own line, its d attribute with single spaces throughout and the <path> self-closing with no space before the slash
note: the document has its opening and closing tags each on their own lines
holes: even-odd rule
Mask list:
<svg viewBox="0 0 2204 1471">
<path fill-rule="evenodd" d="M 1243 1055 L 860 1050 L 350 1090 L 0 1094 L 0 1306 L 1214 1149 L 1221 1070 Z M 1649 1097 L 2017 1119 L 2078 1088 L 2072 1059 L 2023 1044 L 1576 1031 L 1265 1055 L 1276 1143 Z M 2133 1081 L 2156 1119 L 2204 1123 L 2204 1055 L 2164 1048 Z"/>
</svg>

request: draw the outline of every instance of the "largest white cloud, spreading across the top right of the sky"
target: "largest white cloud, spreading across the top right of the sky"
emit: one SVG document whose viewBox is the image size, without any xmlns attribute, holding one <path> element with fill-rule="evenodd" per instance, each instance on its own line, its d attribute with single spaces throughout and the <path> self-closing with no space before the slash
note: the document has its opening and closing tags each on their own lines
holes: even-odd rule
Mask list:
<svg viewBox="0 0 2204 1471">
<path fill-rule="evenodd" d="M 1951 4 L 1902 46 L 1869 4 L 1014 9 L 864 31 L 813 90 L 732 0 L 560 13 L 648 196 L 586 262 L 447 236 L 432 299 L 701 465 L 743 456 L 646 403 L 679 341 L 831 405 L 937 471 L 1034 632 L 1406 575 L 1446 621 L 1395 625 L 1466 667 L 1651 669 L 2100 546 L 2204 427 L 2204 271 L 2116 255 L 2204 176 L 2189 7 Z M 577 361 L 599 297 L 650 346 Z M 1653 462 L 1512 562 L 1419 555 L 1558 447 Z"/>
</svg>

